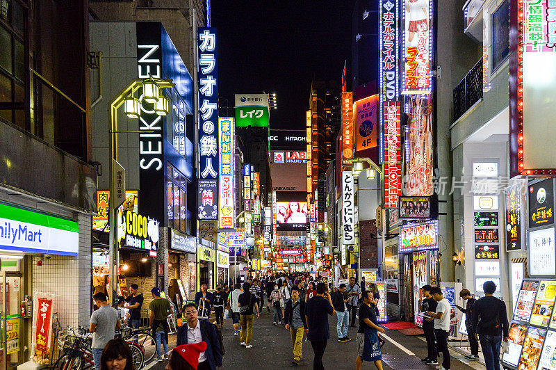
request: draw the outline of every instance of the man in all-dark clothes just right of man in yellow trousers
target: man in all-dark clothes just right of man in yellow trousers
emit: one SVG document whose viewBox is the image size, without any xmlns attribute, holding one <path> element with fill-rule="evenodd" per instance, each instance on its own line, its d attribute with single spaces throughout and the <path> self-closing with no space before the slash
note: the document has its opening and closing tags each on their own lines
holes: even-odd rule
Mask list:
<svg viewBox="0 0 556 370">
<path fill-rule="evenodd" d="M 322 356 L 325 354 L 326 344 L 330 338 L 328 328 L 328 315 L 334 315 L 332 298 L 327 291 L 326 284 L 317 284 L 317 295 L 307 301 L 305 305 L 305 320 L 307 323 L 307 339 L 311 341 L 311 347 L 315 357 L 313 359 L 313 370 L 324 370 Z"/>
</svg>

